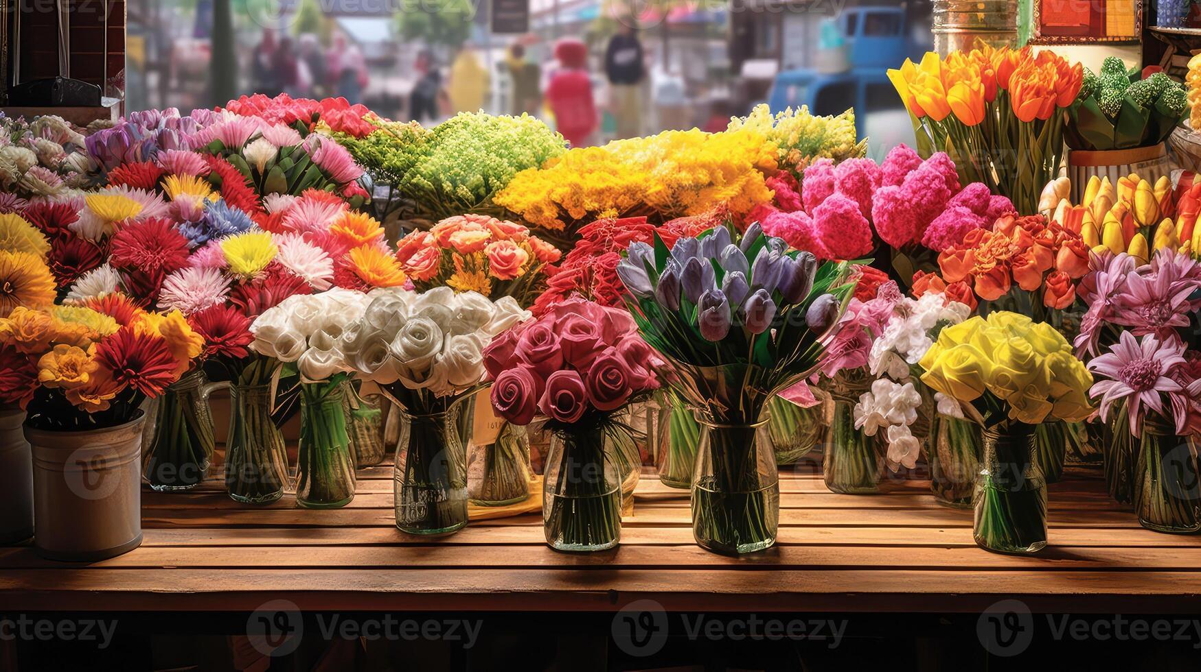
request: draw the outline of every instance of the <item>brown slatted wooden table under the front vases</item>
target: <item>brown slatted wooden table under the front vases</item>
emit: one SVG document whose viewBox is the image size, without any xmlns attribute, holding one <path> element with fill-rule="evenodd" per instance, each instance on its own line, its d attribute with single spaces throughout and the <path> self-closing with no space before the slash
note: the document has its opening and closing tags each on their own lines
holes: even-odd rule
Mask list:
<svg viewBox="0 0 1201 672">
<path fill-rule="evenodd" d="M 1033 610 L 1177 612 L 1201 600 L 1201 536 L 1157 534 L 1111 502 L 1097 468 L 1051 486 L 1050 541 L 1036 557 L 985 552 L 972 512 L 939 506 L 925 481 L 878 496 L 829 492 L 807 461 L 782 469 L 778 545 L 728 558 L 692 539 L 688 494 L 649 470 L 616 550 L 548 548 L 542 520 L 474 522 L 428 539 L 394 527 L 392 467 L 359 472 L 345 509 L 237 504 L 217 479 L 143 493 L 145 541 L 72 565 L 0 548 L 11 610 L 252 611 L 285 598 L 313 610 L 668 610 L 968 612 L 1004 598 Z"/>
</svg>

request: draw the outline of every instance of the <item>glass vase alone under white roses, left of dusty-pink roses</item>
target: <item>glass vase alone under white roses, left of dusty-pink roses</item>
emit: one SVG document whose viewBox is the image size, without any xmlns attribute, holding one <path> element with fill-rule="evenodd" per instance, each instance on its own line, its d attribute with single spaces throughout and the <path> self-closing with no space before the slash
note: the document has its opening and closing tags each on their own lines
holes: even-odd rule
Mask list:
<svg viewBox="0 0 1201 672">
<path fill-rule="evenodd" d="M 444 534 L 467 524 L 461 406 L 462 401 L 448 412 L 426 415 L 411 414 L 399 406 L 393 409 L 400 416 L 393 493 L 401 532 Z"/>
</svg>

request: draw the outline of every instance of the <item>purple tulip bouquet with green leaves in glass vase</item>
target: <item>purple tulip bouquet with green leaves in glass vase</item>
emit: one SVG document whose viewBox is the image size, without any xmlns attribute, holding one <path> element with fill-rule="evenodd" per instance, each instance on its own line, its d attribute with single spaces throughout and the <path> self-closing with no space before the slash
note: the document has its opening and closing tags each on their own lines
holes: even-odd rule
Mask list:
<svg viewBox="0 0 1201 672">
<path fill-rule="evenodd" d="M 854 289 L 849 269 L 789 252 L 758 224 L 739 241 L 718 227 L 670 251 L 658 238 L 634 242 L 617 266 L 639 332 L 700 421 L 692 520 L 701 547 L 737 554 L 775 544 L 779 486 L 764 410 L 820 365 L 823 336 Z"/>
</svg>

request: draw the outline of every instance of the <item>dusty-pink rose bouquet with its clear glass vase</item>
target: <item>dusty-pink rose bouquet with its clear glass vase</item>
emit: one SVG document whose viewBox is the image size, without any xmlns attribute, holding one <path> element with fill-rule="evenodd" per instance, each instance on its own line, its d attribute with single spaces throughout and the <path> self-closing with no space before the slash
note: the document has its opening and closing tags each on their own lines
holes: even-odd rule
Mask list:
<svg viewBox="0 0 1201 672">
<path fill-rule="evenodd" d="M 549 418 L 546 544 L 558 551 L 616 546 L 627 472 L 622 452 L 634 440 L 634 430 L 619 416 L 658 388 L 663 364 L 629 313 L 580 298 L 561 301 L 501 334 L 484 350 L 484 364 L 501 418 L 516 425 L 528 425 L 537 413 Z"/>
</svg>

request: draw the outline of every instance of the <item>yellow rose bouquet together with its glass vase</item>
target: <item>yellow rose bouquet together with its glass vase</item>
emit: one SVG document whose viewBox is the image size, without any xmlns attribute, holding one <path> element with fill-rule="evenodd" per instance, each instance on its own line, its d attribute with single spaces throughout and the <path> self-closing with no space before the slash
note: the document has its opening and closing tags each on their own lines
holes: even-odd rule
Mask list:
<svg viewBox="0 0 1201 672">
<path fill-rule="evenodd" d="M 1046 546 L 1046 481 L 1034 426 L 1081 421 L 1093 412 L 1092 376 L 1071 346 L 1046 323 L 998 311 L 943 329 L 918 365 L 921 382 L 984 431 L 973 496 L 976 544 L 1006 553 Z"/>
</svg>

